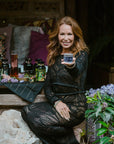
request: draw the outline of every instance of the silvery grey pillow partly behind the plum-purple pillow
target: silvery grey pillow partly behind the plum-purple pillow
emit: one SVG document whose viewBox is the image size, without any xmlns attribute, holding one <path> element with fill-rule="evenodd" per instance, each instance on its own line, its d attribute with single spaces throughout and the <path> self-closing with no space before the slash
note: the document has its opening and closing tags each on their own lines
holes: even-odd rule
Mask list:
<svg viewBox="0 0 114 144">
<path fill-rule="evenodd" d="M 40 27 L 15 26 L 13 31 L 12 51 L 18 54 L 18 64 L 23 64 L 29 53 L 31 30 L 44 33 Z"/>
</svg>

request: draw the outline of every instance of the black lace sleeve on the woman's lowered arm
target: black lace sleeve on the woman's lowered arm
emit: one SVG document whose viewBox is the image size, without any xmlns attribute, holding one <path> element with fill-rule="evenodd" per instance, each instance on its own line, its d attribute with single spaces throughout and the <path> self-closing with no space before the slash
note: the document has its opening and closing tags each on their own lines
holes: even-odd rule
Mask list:
<svg viewBox="0 0 114 144">
<path fill-rule="evenodd" d="M 50 80 L 50 68 L 48 69 L 46 80 L 45 80 L 44 93 L 47 99 L 49 100 L 49 102 L 53 105 L 55 101 L 59 100 L 58 97 L 56 97 L 54 92 L 52 91 L 51 80 Z"/>
</svg>

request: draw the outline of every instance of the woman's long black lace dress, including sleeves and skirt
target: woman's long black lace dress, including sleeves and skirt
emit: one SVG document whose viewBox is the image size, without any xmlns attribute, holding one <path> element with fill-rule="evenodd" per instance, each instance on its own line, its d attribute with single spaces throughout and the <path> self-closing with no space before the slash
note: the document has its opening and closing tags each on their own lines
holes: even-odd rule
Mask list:
<svg viewBox="0 0 114 144">
<path fill-rule="evenodd" d="M 43 144 L 78 144 L 73 127 L 84 120 L 88 54 L 85 51 L 78 53 L 72 69 L 61 64 L 61 58 L 58 56 L 48 69 L 44 87 L 48 102 L 33 103 L 22 110 L 23 119 Z M 57 100 L 70 108 L 70 120 L 62 118 L 54 108 Z"/>
</svg>

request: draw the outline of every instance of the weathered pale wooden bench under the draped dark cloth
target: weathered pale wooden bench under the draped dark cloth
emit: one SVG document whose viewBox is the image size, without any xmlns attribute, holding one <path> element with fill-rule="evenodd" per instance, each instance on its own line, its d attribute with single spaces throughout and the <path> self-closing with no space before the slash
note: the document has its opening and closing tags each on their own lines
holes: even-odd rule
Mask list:
<svg viewBox="0 0 114 144">
<path fill-rule="evenodd" d="M 46 101 L 46 97 L 44 95 L 44 91 L 42 90 L 40 94 L 36 96 L 35 102 L 42 102 Z M 30 102 L 25 101 L 21 97 L 17 96 L 16 94 L 12 93 L 8 88 L 4 86 L 0 86 L 0 114 L 4 110 L 15 109 L 21 110 L 21 108 Z M 85 130 L 86 128 L 86 121 L 82 122 L 81 124 L 74 127 L 74 133 L 77 135 L 79 129 Z"/>
</svg>

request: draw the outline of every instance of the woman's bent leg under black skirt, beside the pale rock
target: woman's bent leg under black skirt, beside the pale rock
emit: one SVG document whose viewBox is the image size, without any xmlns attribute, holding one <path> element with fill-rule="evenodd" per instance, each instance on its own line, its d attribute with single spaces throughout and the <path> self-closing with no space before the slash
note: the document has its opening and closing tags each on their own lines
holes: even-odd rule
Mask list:
<svg viewBox="0 0 114 144">
<path fill-rule="evenodd" d="M 73 129 L 64 127 L 48 103 L 33 104 L 22 110 L 22 117 L 44 144 L 79 144 Z"/>
</svg>

